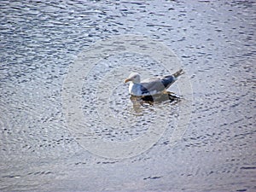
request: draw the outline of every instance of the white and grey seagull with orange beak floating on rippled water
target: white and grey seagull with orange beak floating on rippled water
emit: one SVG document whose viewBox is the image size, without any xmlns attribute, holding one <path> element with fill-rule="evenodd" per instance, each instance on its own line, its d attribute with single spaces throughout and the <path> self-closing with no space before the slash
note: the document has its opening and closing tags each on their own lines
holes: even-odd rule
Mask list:
<svg viewBox="0 0 256 192">
<path fill-rule="evenodd" d="M 125 83 L 130 82 L 129 93 L 131 96 L 153 96 L 164 93 L 166 89 L 177 81 L 177 77 L 183 73 L 183 70 L 180 69 L 177 73 L 173 73 L 172 75 L 144 79 L 143 81 L 141 81 L 139 73 L 131 73 L 129 77 L 125 79 Z"/>
</svg>

